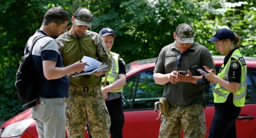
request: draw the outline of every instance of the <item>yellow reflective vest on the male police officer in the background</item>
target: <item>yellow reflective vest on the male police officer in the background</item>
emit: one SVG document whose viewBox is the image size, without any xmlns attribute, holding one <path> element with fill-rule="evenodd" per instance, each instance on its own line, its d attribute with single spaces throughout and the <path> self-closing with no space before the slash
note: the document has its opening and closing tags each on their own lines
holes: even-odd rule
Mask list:
<svg viewBox="0 0 256 138">
<path fill-rule="evenodd" d="M 111 70 L 108 72 L 108 83 L 112 84 L 118 79 L 118 72 L 119 72 L 119 66 L 118 66 L 118 57 L 119 54 L 116 54 L 114 52 L 109 52 L 109 55 L 112 60 L 112 67 Z M 101 82 L 104 83 L 105 77 L 102 77 Z M 123 88 L 120 88 L 115 91 L 110 91 L 110 92 L 123 92 Z"/>
</svg>

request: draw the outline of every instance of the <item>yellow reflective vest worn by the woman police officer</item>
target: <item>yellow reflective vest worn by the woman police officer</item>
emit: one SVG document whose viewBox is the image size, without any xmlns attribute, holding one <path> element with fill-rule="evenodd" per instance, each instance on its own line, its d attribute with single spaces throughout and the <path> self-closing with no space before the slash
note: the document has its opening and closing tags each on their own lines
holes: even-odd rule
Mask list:
<svg viewBox="0 0 256 138">
<path fill-rule="evenodd" d="M 246 96 L 246 83 L 247 83 L 247 77 L 246 77 L 246 63 L 243 58 L 243 56 L 240 54 L 239 50 L 235 50 L 231 57 L 235 58 L 236 60 L 239 60 L 239 65 L 241 66 L 241 78 L 240 78 L 240 84 L 239 89 L 236 93 L 233 93 L 233 102 L 234 105 L 240 107 L 244 106 L 245 102 L 245 96 Z M 224 64 L 222 64 L 221 72 L 218 74 L 218 77 L 222 79 L 228 79 L 228 70 L 230 67 L 231 57 L 228 60 L 228 63 L 224 67 Z M 224 68 L 223 68 L 224 67 Z M 227 100 L 228 94 L 230 93 L 228 90 L 223 88 L 220 84 L 216 84 L 215 88 L 212 87 L 213 96 L 214 96 L 214 103 L 224 103 Z"/>
</svg>

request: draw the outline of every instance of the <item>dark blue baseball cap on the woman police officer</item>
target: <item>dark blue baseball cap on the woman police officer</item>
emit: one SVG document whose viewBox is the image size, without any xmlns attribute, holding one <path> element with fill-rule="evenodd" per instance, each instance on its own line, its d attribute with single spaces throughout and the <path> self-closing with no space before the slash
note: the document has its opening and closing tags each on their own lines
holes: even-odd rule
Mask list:
<svg viewBox="0 0 256 138">
<path fill-rule="evenodd" d="M 228 30 L 227 28 L 220 29 L 216 31 L 211 39 L 208 39 L 207 42 L 216 42 L 219 40 L 226 40 L 229 39 L 234 41 L 236 38 L 235 34 Z"/>
</svg>

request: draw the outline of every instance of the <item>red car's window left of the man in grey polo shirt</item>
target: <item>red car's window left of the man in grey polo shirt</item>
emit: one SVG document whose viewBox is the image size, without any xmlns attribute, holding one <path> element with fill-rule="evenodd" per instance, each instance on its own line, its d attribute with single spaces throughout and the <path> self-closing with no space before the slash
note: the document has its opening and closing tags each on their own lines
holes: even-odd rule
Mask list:
<svg viewBox="0 0 256 138">
<path fill-rule="evenodd" d="M 136 83 L 138 83 L 137 86 Z M 164 85 L 155 84 L 153 69 L 132 76 L 126 81 L 123 89 L 124 110 L 152 109 L 154 103 L 162 97 L 163 91 Z M 134 97 L 135 94 L 136 97 Z"/>
</svg>

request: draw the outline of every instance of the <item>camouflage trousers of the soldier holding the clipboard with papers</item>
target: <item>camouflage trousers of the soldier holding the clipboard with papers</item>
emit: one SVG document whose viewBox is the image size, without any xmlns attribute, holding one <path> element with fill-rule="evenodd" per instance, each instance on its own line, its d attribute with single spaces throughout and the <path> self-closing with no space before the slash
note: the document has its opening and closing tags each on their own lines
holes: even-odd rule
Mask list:
<svg viewBox="0 0 256 138">
<path fill-rule="evenodd" d="M 111 122 L 100 87 L 90 87 L 84 92 L 69 86 L 69 98 L 64 99 L 68 138 L 84 138 L 86 120 L 93 138 L 110 137 Z"/>
</svg>

